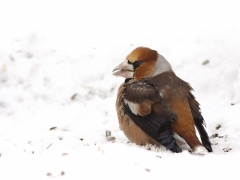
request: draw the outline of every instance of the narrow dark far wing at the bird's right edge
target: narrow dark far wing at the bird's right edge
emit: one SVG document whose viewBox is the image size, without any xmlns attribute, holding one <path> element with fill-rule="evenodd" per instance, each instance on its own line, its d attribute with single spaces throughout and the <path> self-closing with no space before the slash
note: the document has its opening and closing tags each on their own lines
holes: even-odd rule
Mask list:
<svg viewBox="0 0 240 180">
<path fill-rule="evenodd" d="M 205 130 L 206 124 L 205 124 L 203 116 L 200 112 L 199 103 L 196 101 L 195 97 L 193 96 L 193 94 L 191 92 L 189 92 L 188 102 L 189 102 L 189 105 L 191 108 L 195 126 L 201 137 L 202 144 L 205 146 L 205 148 L 209 152 L 212 152 L 211 142 L 210 142 L 209 136 Z"/>
</svg>

